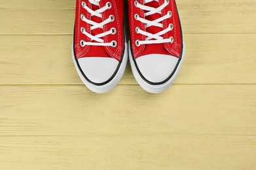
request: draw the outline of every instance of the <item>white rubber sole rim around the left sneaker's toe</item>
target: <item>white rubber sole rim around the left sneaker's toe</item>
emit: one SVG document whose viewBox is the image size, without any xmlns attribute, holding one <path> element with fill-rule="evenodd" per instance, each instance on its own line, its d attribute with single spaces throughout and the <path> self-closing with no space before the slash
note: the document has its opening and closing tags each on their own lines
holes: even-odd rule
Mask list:
<svg viewBox="0 0 256 170">
<path fill-rule="evenodd" d="M 82 73 L 77 65 L 77 61 L 75 60 L 75 54 L 74 54 L 74 50 L 73 50 L 73 44 L 72 44 L 72 56 L 73 56 L 73 61 L 75 63 L 75 68 L 77 69 L 77 73 L 79 74 L 82 82 L 84 83 L 84 85 L 92 90 L 92 92 L 95 93 L 107 93 L 111 90 L 113 90 L 113 88 L 115 88 L 115 86 L 117 86 L 117 84 L 119 83 L 120 79 L 122 78 L 122 75 L 124 75 L 124 71 L 126 69 L 126 64 L 127 64 L 127 60 L 128 60 L 128 44 L 127 42 L 125 42 L 125 49 L 124 49 L 124 56 L 122 59 L 122 63 L 120 64 L 119 70 L 117 71 L 117 74 L 115 75 L 115 77 L 108 82 L 107 84 L 104 84 L 102 86 L 96 86 L 94 84 L 91 84 L 90 82 L 88 82 L 84 76 L 82 76 Z"/>
</svg>

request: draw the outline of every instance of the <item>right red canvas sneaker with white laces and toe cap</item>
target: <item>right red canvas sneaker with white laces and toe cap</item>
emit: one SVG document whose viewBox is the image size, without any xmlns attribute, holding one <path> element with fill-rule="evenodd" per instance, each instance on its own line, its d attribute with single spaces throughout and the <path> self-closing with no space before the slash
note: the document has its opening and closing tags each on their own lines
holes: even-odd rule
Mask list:
<svg viewBox="0 0 256 170">
<path fill-rule="evenodd" d="M 129 0 L 130 63 L 139 85 L 164 92 L 175 80 L 185 46 L 175 0 Z"/>
</svg>

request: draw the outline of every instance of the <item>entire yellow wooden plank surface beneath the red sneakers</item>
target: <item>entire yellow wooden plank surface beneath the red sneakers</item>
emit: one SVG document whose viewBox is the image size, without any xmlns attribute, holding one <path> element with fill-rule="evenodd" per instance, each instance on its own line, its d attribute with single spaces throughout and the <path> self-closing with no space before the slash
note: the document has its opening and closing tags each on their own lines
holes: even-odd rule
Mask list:
<svg viewBox="0 0 256 170">
<path fill-rule="evenodd" d="M 177 0 L 187 55 L 152 95 L 98 95 L 71 57 L 75 0 L 0 0 L 0 169 L 256 169 L 256 1 Z"/>
</svg>

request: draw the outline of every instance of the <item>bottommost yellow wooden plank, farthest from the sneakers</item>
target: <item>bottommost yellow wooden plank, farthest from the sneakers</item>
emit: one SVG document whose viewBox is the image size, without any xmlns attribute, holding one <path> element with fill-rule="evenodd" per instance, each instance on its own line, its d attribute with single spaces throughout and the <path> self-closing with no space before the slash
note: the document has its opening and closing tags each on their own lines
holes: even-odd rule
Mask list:
<svg viewBox="0 0 256 170">
<path fill-rule="evenodd" d="M 255 136 L 0 137 L 1 169 L 255 169 Z"/>
</svg>

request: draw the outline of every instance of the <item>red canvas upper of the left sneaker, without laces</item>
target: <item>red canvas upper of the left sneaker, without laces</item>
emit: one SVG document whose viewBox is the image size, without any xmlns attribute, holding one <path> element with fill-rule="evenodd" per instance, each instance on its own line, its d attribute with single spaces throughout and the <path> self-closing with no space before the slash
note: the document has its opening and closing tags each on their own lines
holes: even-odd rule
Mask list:
<svg viewBox="0 0 256 170">
<path fill-rule="evenodd" d="M 86 9 L 82 8 L 82 1 L 84 1 L 92 10 L 97 10 L 99 8 L 102 8 L 106 5 L 106 3 L 111 3 L 111 9 L 105 10 L 105 12 L 102 12 L 102 19 L 98 16 L 92 16 L 90 12 L 87 12 Z M 75 55 L 77 56 L 77 59 L 79 58 L 86 58 L 86 57 L 107 57 L 107 58 L 115 58 L 118 61 L 120 61 L 120 58 L 122 57 L 122 51 L 124 49 L 124 31 L 123 31 L 123 1 L 120 0 L 101 0 L 100 1 L 100 7 L 96 5 L 92 5 L 89 0 L 77 0 L 76 5 L 76 14 L 75 14 L 75 29 L 74 29 L 74 47 L 75 47 Z M 103 26 L 103 29 L 97 28 L 94 30 L 91 30 L 91 25 L 81 20 L 81 14 L 84 14 L 84 16 L 92 20 L 94 22 L 100 23 L 109 16 L 113 15 L 115 16 L 115 20 L 113 22 L 110 22 L 109 24 L 106 24 Z M 90 42 L 91 39 L 81 33 L 81 27 L 84 27 L 88 33 L 91 33 L 92 35 L 98 35 L 99 33 L 103 33 L 106 31 L 109 31 L 112 27 L 115 27 L 117 30 L 117 33 L 115 35 L 107 35 L 103 37 L 102 39 L 104 42 L 111 42 L 116 41 L 117 46 L 92 46 L 92 45 L 86 45 L 81 46 L 80 41 L 84 40 L 86 42 Z M 93 41 L 92 41 L 93 42 Z"/>
</svg>

